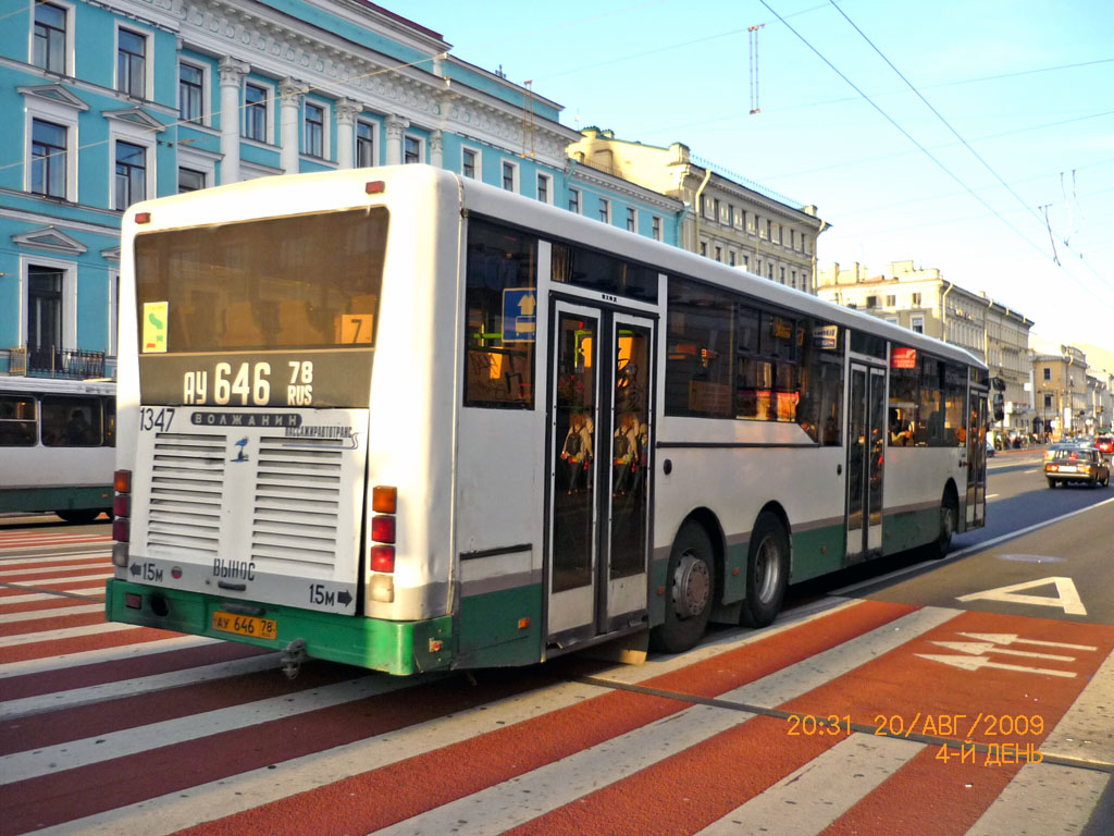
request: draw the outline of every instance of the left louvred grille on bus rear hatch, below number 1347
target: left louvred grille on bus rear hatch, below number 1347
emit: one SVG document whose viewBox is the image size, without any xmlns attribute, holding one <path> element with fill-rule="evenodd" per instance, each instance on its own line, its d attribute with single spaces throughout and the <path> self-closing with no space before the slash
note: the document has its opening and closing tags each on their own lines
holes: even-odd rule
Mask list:
<svg viewBox="0 0 1114 836">
<path fill-rule="evenodd" d="M 150 474 L 147 545 L 212 558 L 221 542 L 226 436 L 159 432 Z"/>
</svg>

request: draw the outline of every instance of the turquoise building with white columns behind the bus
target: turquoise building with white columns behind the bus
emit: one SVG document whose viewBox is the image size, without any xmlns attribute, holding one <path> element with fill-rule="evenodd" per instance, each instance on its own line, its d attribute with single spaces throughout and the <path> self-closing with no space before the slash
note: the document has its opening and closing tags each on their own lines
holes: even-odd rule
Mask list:
<svg viewBox="0 0 1114 836">
<path fill-rule="evenodd" d="M 678 243 L 571 162 L 560 105 L 363 0 L 0 0 L 0 373 L 114 377 L 119 223 L 150 196 L 427 163 Z"/>
</svg>

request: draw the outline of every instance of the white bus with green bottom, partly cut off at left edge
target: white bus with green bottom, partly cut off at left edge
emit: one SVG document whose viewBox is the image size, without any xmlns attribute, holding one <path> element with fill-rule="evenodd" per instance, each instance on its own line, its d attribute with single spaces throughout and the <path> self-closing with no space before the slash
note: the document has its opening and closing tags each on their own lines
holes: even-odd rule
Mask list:
<svg viewBox="0 0 1114 836">
<path fill-rule="evenodd" d="M 108 513 L 115 444 L 114 382 L 0 376 L 0 512 Z"/>
</svg>

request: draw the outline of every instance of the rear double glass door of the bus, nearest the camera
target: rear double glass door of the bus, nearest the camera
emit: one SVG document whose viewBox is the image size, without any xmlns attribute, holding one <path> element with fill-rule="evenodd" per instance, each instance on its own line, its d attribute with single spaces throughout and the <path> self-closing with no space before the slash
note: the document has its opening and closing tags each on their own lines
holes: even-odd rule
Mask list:
<svg viewBox="0 0 1114 836">
<path fill-rule="evenodd" d="M 654 322 L 555 302 L 550 314 L 547 639 L 644 623 Z"/>
</svg>

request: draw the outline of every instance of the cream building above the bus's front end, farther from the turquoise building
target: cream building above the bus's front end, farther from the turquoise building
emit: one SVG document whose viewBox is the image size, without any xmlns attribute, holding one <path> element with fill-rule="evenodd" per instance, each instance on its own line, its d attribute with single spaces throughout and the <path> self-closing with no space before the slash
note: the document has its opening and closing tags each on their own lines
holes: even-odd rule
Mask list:
<svg viewBox="0 0 1114 836">
<path fill-rule="evenodd" d="M 891 262 L 889 273 L 876 276 L 858 263 L 852 268 L 832 264 L 819 271 L 817 280 L 821 299 L 960 346 L 984 360 L 990 376 L 1006 385 L 1001 428 L 1032 431 L 1028 343 L 1033 320 L 985 293 L 947 281 L 935 268 L 915 268 L 911 261 Z"/>
</svg>

